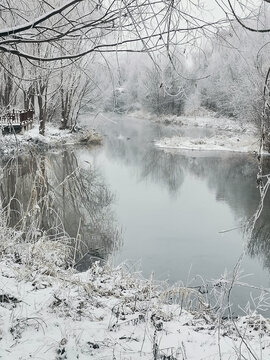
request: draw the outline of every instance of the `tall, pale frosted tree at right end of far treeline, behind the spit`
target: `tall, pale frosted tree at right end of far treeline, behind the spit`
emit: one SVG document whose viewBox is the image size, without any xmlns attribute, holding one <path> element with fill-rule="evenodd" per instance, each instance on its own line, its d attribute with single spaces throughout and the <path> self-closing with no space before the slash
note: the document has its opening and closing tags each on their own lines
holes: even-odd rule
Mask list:
<svg viewBox="0 0 270 360">
<path fill-rule="evenodd" d="M 236 22 L 212 36 L 203 54 L 202 49 L 193 54 L 195 80 L 187 111 L 201 106 L 217 116 L 258 124 L 270 50 L 261 56 L 260 49 L 266 40 L 265 36 L 243 31 Z"/>
</svg>

